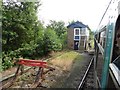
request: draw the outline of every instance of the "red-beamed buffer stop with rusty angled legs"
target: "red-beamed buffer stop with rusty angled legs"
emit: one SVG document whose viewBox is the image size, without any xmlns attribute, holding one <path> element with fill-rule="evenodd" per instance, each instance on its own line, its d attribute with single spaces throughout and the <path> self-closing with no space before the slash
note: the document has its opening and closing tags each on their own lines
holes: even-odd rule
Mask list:
<svg viewBox="0 0 120 90">
<path fill-rule="evenodd" d="M 17 63 L 19 64 L 19 66 L 16 70 L 14 78 L 10 82 L 5 84 L 3 86 L 4 88 L 11 87 L 13 85 L 13 83 L 15 82 L 15 80 L 17 79 L 18 75 L 23 73 L 21 65 L 32 66 L 32 67 L 38 66 L 39 67 L 39 70 L 37 71 L 37 75 L 35 78 L 35 82 L 33 82 L 33 84 L 30 86 L 30 88 L 36 88 L 44 79 L 44 77 L 43 77 L 44 74 L 46 74 L 49 71 L 55 70 L 54 68 L 48 66 L 47 62 L 42 61 L 42 60 L 19 59 L 19 61 Z M 44 72 L 43 71 L 44 68 L 47 68 L 48 70 Z M 19 70 L 21 70 L 22 73 L 19 72 Z"/>
</svg>

